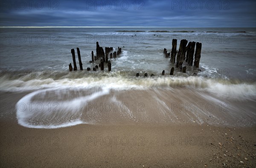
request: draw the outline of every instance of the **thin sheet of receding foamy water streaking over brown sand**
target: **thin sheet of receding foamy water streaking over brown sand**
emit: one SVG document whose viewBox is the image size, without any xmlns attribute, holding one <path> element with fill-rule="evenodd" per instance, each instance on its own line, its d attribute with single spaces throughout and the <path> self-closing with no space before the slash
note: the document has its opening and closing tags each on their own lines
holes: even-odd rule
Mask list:
<svg viewBox="0 0 256 168">
<path fill-rule="evenodd" d="M 243 90 L 240 95 L 236 92 L 234 97 L 233 92 L 226 89 L 228 97 L 218 97 L 206 89 L 199 91 L 181 86 L 132 90 L 109 87 L 45 89 L 18 101 L 17 120 L 22 126 L 47 129 L 81 123 L 192 122 L 251 126 L 256 123 L 256 115 L 255 97 L 250 93 L 251 90 Z"/>
</svg>

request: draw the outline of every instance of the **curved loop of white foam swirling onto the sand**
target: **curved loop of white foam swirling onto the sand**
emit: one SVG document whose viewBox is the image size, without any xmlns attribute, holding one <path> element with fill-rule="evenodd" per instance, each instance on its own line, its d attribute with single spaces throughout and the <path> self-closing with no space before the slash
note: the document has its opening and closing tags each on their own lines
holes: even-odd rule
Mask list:
<svg viewBox="0 0 256 168">
<path fill-rule="evenodd" d="M 63 90 L 60 90 L 60 92 Z M 25 108 L 17 108 L 16 116 L 18 123 L 21 126 L 29 127 L 29 128 L 44 128 L 44 129 L 55 129 L 55 128 L 61 128 L 61 127 L 67 127 L 67 126 L 74 126 L 77 124 L 85 123 L 82 121 L 81 115 L 83 112 L 84 104 L 86 104 L 88 101 L 92 101 L 96 98 L 99 98 L 102 95 L 109 94 L 108 88 L 103 88 L 99 92 L 94 92 L 91 95 L 87 96 L 80 96 L 77 98 L 73 98 L 70 101 L 54 101 L 52 104 L 56 104 L 57 110 L 52 109 L 54 106 L 51 104 L 49 105 L 49 101 L 32 101 L 32 98 L 35 95 L 44 96 L 46 95 L 46 92 L 54 92 L 54 94 L 58 94 L 58 92 L 55 89 L 47 89 L 47 90 L 38 90 L 35 92 L 32 92 L 23 98 L 21 98 L 17 105 L 22 105 Z M 65 95 L 65 93 L 61 93 L 62 95 Z M 60 96 L 62 96 L 60 94 Z M 34 104 L 40 103 L 40 109 L 36 107 Z M 29 106 L 29 104 L 33 104 Z M 43 108 L 41 108 L 43 106 Z M 49 109 L 49 106 L 51 109 Z M 59 122 L 59 123 L 52 123 L 49 120 L 52 118 L 59 118 L 61 120 L 64 120 L 66 122 Z M 70 119 L 75 118 L 75 119 Z M 46 121 L 48 124 L 37 124 L 34 122 L 29 122 L 28 120 L 32 121 Z M 69 120 L 69 121 L 67 121 Z"/>
</svg>

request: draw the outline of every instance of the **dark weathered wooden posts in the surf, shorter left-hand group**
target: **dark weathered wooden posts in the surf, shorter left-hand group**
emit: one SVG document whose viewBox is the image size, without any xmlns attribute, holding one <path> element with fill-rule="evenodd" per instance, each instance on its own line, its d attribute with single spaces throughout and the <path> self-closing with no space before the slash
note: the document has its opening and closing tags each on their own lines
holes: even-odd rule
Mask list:
<svg viewBox="0 0 256 168">
<path fill-rule="evenodd" d="M 81 55 L 80 55 L 80 50 L 79 48 L 76 48 L 77 50 L 77 55 L 78 55 L 78 60 L 79 60 L 79 66 L 80 66 L 80 70 L 83 70 L 83 64 L 81 61 Z M 104 62 L 108 63 L 108 71 L 111 71 L 111 61 L 108 60 L 108 53 L 110 53 L 113 50 L 113 47 L 105 47 L 105 52 L 103 50 L 102 47 L 99 46 L 99 42 L 96 42 L 96 56 L 94 56 L 93 51 L 92 51 L 92 60 L 90 61 L 90 63 L 100 59 L 100 64 L 99 66 L 96 65 L 95 67 L 93 67 L 93 70 L 96 71 L 96 69 L 98 69 L 100 67 L 101 70 L 104 70 Z M 122 52 L 122 48 L 118 47 L 117 52 L 113 52 L 110 53 L 110 58 L 116 58 L 116 56 L 118 56 L 120 53 Z M 71 53 L 72 53 L 72 57 L 73 57 L 73 64 L 74 64 L 74 69 L 72 67 L 72 64 L 69 64 L 69 70 L 70 71 L 75 71 L 77 70 L 76 67 L 76 55 L 75 55 L 75 50 L 71 49 Z M 87 67 L 87 70 L 90 70 L 90 67 Z"/>
</svg>

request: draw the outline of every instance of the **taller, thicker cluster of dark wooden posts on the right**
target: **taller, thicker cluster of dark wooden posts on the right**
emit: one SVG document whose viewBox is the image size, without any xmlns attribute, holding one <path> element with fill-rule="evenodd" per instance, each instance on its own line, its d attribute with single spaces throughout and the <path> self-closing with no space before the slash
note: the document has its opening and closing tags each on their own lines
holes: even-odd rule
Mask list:
<svg viewBox="0 0 256 168">
<path fill-rule="evenodd" d="M 186 39 L 180 40 L 180 47 L 179 50 L 177 50 L 177 39 L 172 39 L 172 51 L 170 53 L 167 53 L 167 49 L 163 49 L 163 53 L 165 54 L 166 58 L 170 56 L 170 62 L 174 63 L 175 67 L 180 68 L 180 71 L 182 71 L 183 73 L 186 73 L 186 66 L 182 67 L 183 61 L 187 62 L 187 65 L 192 66 L 193 60 L 195 59 L 194 66 L 198 68 L 201 58 L 202 43 L 189 42 L 188 45 L 186 45 L 187 43 L 188 41 Z M 174 67 L 172 67 L 170 75 L 173 75 L 173 72 Z M 162 74 L 164 75 L 164 71 L 162 72 Z"/>
</svg>

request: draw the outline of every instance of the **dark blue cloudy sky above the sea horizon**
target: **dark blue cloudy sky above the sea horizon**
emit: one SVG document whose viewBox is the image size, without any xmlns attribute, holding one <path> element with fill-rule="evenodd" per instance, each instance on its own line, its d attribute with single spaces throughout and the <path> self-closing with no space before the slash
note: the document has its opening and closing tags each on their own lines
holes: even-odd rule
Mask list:
<svg viewBox="0 0 256 168">
<path fill-rule="evenodd" d="M 256 27 L 255 0 L 0 0 L 0 27 Z"/>
</svg>

